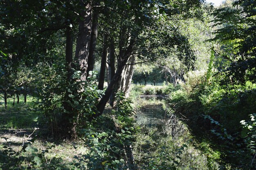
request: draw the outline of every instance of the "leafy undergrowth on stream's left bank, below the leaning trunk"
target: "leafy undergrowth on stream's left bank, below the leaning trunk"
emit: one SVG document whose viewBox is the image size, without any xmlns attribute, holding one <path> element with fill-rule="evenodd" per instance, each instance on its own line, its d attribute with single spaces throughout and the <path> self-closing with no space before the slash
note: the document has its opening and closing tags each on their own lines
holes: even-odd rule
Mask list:
<svg viewBox="0 0 256 170">
<path fill-rule="evenodd" d="M 117 94 L 117 108 L 112 116 L 99 116 L 92 122 L 86 122 L 81 130 L 85 145 L 90 148 L 88 154 L 79 155 L 74 165 L 90 170 L 126 170 L 130 165 L 127 148 L 134 141 L 136 133 L 133 127 L 133 109 L 130 99 Z"/>
</svg>

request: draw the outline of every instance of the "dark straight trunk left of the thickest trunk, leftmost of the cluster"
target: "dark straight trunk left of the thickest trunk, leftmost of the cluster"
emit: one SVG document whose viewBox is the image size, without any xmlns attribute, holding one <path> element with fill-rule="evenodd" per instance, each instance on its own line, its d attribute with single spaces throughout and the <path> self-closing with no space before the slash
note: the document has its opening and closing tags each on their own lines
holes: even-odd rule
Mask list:
<svg viewBox="0 0 256 170">
<path fill-rule="evenodd" d="M 66 29 L 66 69 L 67 69 L 67 82 L 71 80 L 72 76 L 72 62 L 73 62 L 73 36 L 72 28 L 67 26 Z"/>
</svg>

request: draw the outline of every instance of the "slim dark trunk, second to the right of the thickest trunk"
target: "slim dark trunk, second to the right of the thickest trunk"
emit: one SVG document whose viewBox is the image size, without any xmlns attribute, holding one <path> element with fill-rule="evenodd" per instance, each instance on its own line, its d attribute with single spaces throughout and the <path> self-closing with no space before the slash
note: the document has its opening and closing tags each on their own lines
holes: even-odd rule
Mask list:
<svg viewBox="0 0 256 170">
<path fill-rule="evenodd" d="M 98 89 L 100 90 L 103 90 L 104 88 L 105 70 L 106 70 L 106 62 L 107 62 L 107 56 L 108 56 L 107 41 L 108 41 L 108 36 L 104 35 L 103 51 L 101 56 L 101 71 L 99 73 L 99 84 L 98 84 Z"/>
</svg>

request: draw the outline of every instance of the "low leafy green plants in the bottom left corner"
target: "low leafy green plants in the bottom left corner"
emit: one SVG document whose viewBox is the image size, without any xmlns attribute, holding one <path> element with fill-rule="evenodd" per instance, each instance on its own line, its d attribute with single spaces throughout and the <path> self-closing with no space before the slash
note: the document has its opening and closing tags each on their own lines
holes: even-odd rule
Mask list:
<svg viewBox="0 0 256 170">
<path fill-rule="evenodd" d="M 48 153 L 54 145 L 39 149 L 34 146 L 35 139 L 28 140 L 22 145 L 21 150 L 15 150 L 9 146 L 7 142 L 2 145 L 0 152 L 0 165 L 4 169 L 17 169 L 17 170 L 70 170 L 74 169 L 72 163 L 63 164 L 63 160 L 58 157 L 48 157 Z"/>
</svg>

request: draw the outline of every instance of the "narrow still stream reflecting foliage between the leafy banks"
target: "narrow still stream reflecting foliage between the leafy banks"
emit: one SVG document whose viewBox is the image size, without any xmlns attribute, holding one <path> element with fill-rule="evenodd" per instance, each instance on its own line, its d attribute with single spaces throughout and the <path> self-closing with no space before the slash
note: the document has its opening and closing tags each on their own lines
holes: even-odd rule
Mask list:
<svg viewBox="0 0 256 170">
<path fill-rule="evenodd" d="M 134 154 L 139 170 L 209 169 L 207 156 L 197 149 L 186 124 L 168 114 L 163 98 L 141 97 L 138 103 L 136 121 L 141 133 L 137 135 Z M 212 167 L 218 169 L 218 165 Z"/>
</svg>

